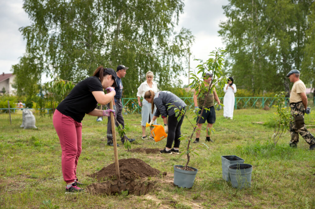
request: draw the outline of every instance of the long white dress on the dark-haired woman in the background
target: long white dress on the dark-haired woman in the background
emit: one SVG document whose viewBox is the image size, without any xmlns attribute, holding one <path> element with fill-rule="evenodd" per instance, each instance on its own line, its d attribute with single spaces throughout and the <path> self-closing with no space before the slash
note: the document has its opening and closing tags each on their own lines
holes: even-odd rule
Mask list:
<svg viewBox="0 0 315 209">
<path fill-rule="evenodd" d="M 229 84 L 225 84 L 223 91 L 225 92 L 224 99 L 223 99 L 223 116 L 233 118 L 233 110 L 234 110 L 234 104 L 235 104 L 235 97 L 234 94 L 236 93 L 236 85 L 233 83 L 232 86 L 234 90 L 229 86 L 226 89 L 226 86 Z"/>
</svg>

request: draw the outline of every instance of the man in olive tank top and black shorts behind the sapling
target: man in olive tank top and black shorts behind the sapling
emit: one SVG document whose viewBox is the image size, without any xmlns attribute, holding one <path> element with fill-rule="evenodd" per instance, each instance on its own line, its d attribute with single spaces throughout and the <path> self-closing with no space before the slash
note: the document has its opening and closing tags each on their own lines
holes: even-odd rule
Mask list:
<svg viewBox="0 0 315 209">
<path fill-rule="evenodd" d="M 209 86 L 209 84 L 211 83 L 211 79 L 212 79 L 212 74 L 210 72 L 206 72 L 205 75 L 203 76 L 203 82 L 205 83 L 204 86 Z M 205 97 L 207 95 L 207 92 L 197 92 L 195 91 L 195 94 L 193 96 L 194 99 L 194 105 L 195 105 L 195 109 L 197 109 L 199 107 L 199 109 L 202 109 L 204 101 L 205 101 Z M 200 137 L 200 130 L 202 127 L 202 124 L 205 123 L 207 121 L 207 130 L 209 130 L 209 128 L 212 128 L 212 125 L 215 123 L 215 108 L 214 108 L 214 100 L 217 101 L 218 105 L 220 105 L 220 100 L 218 95 L 216 94 L 215 91 L 215 87 L 212 88 L 212 92 L 209 92 L 208 98 L 206 100 L 206 103 L 204 105 L 205 108 L 209 108 L 210 110 L 203 110 L 202 113 L 202 117 L 200 118 L 200 121 L 198 122 L 198 118 L 197 118 L 197 126 L 199 131 L 196 131 L 196 140 L 193 143 L 198 143 L 199 142 L 199 137 Z M 201 113 L 201 110 L 199 110 L 199 113 Z M 213 142 L 210 139 L 210 135 L 206 134 L 206 142 Z"/>
</svg>

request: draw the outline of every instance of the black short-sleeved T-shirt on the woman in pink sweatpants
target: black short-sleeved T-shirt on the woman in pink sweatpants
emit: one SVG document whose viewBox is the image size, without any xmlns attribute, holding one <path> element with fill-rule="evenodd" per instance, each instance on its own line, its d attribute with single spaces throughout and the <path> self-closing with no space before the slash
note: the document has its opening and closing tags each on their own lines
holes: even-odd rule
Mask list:
<svg viewBox="0 0 315 209">
<path fill-rule="evenodd" d="M 91 112 L 97 106 L 92 91 L 104 91 L 100 79 L 95 76 L 79 82 L 56 109 L 81 123 L 85 114 Z"/>
</svg>

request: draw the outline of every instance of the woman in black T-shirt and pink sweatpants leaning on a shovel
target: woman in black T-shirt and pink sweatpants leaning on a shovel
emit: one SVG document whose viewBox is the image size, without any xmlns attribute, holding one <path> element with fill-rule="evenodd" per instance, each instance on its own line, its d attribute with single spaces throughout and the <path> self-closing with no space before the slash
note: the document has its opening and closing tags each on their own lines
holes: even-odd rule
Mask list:
<svg viewBox="0 0 315 209">
<path fill-rule="evenodd" d="M 117 74 L 112 68 L 98 67 L 93 76 L 79 82 L 57 106 L 53 124 L 59 137 L 61 168 L 66 192 L 84 191 L 77 179 L 77 163 L 82 150 L 82 123 L 85 114 L 110 116 L 114 110 L 97 110 L 97 103 L 108 104 L 116 95 Z M 107 90 L 107 94 L 104 93 Z"/>
</svg>

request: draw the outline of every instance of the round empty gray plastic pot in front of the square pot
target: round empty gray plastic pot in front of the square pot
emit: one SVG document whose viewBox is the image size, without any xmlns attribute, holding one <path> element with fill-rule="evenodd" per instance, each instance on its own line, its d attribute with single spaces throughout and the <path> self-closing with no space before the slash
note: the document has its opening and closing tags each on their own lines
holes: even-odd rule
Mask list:
<svg viewBox="0 0 315 209">
<path fill-rule="evenodd" d="M 228 166 L 232 187 L 242 189 L 250 187 L 253 166 L 246 163 L 236 163 Z"/>
</svg>

